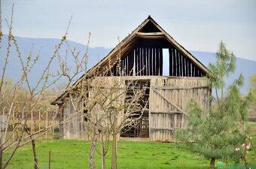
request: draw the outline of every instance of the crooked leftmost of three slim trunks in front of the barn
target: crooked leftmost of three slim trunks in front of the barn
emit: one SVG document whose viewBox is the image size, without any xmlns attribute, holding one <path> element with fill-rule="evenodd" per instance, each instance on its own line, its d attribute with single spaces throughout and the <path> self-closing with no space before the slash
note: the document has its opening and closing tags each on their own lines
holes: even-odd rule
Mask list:
<svg viewBox="0 0 256 169">
<path fill-rule="evenodd" d="M 92 137 L 92 140 L 91 140 L 90 152 L 89 152 L 89 164 L 90 164 L 91 169 L 96 168 L 95 162 L 94 162 L 94 153 L 95 153 L 95 150 L 96 150 L 97 136 L 98 136 L 98 131 L 97 131 L 96 124 L 94 124 L 93 125 L 93 137 Z"/>
</svg>

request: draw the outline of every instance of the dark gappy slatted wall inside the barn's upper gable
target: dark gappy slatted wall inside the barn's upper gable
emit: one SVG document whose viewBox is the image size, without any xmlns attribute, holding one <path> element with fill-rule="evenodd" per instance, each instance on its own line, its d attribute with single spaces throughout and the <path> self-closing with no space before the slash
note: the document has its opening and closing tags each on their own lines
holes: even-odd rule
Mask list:
<svg viewBox="0 0 256 169">
<path fill-rule="evenodd" d="M 178 49 L 164 40 L 139 40 L 129 53 L 108 72 L 114 76 L 162 76 L 163 49 L 169 50 L 169 76 L 203 77 L 206 75 L 197 65 Z"/>
</svg>

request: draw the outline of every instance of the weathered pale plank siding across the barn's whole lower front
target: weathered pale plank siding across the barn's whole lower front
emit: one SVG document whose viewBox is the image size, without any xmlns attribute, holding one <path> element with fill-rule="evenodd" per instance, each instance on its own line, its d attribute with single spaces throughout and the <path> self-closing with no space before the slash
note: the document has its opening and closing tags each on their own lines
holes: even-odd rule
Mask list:
<svg viewBox="0 0 256 169">
<path fill-rule="evenodd" d="M 108 90 L 114 83 L 124 85 L 125 80 L 150 80 L 149 137 L 152 141 L 174 141 L 175 130 L 187 125 L 187 103 L 190 99 L 196 100 L 203 110 L 209 107 L 210 90 L 205 77 L 96 77 L 92 84 L 103 84 Z M 91 91 L 89 97 L 93 95 L 94 92 Z M 123 98 L 117 101 L 118 104 L 120 101 L 123 101 Z M 82 104 L 76 106 L 80 105 Z M 99 111 L 94 111 L 96 118 Z M 66 121 L 63 125 L 64 139 L 89 140 L 88 124 L 84 122 L 83 115 L 73 113 L 74 108 L 69 98 L 66 98 L 63 111 L 63 120 Z M 120 117 L 118 121 L 120 122 Z"/>
</svg>

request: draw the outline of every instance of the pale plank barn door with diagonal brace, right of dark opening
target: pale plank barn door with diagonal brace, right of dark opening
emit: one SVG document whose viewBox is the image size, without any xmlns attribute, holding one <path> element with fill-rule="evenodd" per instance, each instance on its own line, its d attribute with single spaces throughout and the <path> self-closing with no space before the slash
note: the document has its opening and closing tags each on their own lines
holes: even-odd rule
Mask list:
<svg viewBox="0 0 256 169">
<path fill-rule="evenodd" d="M 207 107 L 208 88 L 203 78 L 154 78 L 150 94 L 151 140 L 170 142 L 177 128 L 187 125 L 187 103 L 191 98 Z"/>
</svg>

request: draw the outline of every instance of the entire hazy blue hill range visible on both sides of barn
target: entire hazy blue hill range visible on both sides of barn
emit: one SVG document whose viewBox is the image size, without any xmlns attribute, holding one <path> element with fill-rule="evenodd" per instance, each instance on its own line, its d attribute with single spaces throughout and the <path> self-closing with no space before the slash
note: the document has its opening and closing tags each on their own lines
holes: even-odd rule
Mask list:
<svg viewBox="0 0 256 169">
<path fill-rule="evenodd" d="M 0 49 L 0 68 L 2 72 L 3 68 L 3 60 L 4 56 L 6 55 L 6 48 L 7 48 L 7 41 L 8 37 L 6 35 L 3 36 L 2 39 L 2 47 Z M 17 37 L 17 43 L 20 47 L 20 52 L 23 54 L 23 57 L 27 57 L 29 55 L 30 50 L 32 49 L 32 56 L 35 56 L 36 53 L 40 50 L 40 59 L 38 60 L 38 65 L 36 66 L 36 69 L 32 70 L 32 74 L 30 74 L 29 79 L 32 81 L 32 83 L 35 83 L 38 79 L 38 74 L 42 72 L 42 69 L 47 64 L 47 61 L 50 59 L 50 56 L 53 55 L 53 51 L 55 49 L 56 44 L 59 44 L 59 39 L 49 39 L 49 38 L 20 38 Z M 81 55 L 84 55 L 86 46 L 84 44 L 79 44 L 74 41 L 69 41 L 69 46 L 71 48 L 76 47 L 77 51 L 81 51 Z M 12 50 L 10 55 L 10 61 L 8 64 L 8 74 L 7 77 L 11 77 L 14 80 L 17 80 L 18 77 L 20 77 L 20 62 L 17 61 L 17 52 L 14 50 L 14 44 L 12 44 Z M 62 49 L 59 50 L 59 53 L 62 56 L 65 56 L 67 46 L 66 44 L 63 45 Z M 99 60 L 101 60 L 103 57 L 105 57 L 109 52 L 111 51 L 110 48 L 105 47 L 89 47 L 88 53 L 89 53 L 89 62 L 88 62 L 88 68 L 91 68 L 93 65 L 96 65 Z M 203 65 L 208 66 L 209 62 L 215 62 L 215 53 L 208 53 L 208 52 L 199 52 L 199 51 L 190 51 L 195 57 L 197 57 L 200 62 L 203 63 Z M 68 64 L 72 66 L 73 60 L 71 56 L 68 56 Z M 74 66 L 74 65 L 73 65 Z M 53 61 L 53 65 L 51 65 L 50 70 L 52 72 L 55 72 L 58 68 L 58 62 L 57 59 Z M 236 58 L 236 71 L 233 75 L 231 75 L 229 78 L 227 78 L 226 83 L 227 86 L 233 82 L 237 77 L 239 77 L 239 74 L 242 73 L 245 77 L 245 85 L 242 87 L 241 92 L 245 94 L 248 92 L 249 87 L 249 77 L 251 77 L 253 74 L 256 74 L 256 61 L 251 61 L 248 59 L 242 59 L 237 57 Z"/>
</svg>

